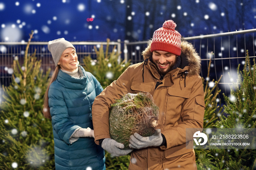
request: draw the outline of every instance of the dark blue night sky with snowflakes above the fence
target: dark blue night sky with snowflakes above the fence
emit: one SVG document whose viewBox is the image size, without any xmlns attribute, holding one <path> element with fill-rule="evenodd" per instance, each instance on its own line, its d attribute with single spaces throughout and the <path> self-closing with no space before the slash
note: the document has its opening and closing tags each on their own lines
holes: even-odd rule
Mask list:
<svg viewBox="0 0 256 170">
<path fill-rule="evenodd" d="M 256 1 L 0 0 L 0 41 L 147 40 L 168 19 L 184 37 L 252 29 Z"/>
</svg>

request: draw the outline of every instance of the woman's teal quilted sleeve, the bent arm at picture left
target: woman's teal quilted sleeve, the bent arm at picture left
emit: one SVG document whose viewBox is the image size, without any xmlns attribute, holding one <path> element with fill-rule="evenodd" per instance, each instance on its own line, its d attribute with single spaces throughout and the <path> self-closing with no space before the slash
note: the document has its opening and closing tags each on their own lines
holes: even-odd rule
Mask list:
<svg viewBox="0 0 256 170">
<path fill-rule="evenodd" d="M 51 88 L 50 86 L 48 97 L 53 129 L 57 132 L 61 140 L 71 144 L 69 142 L 70 136 L 80 127 L 69 120 L 68 109 L 60 89 Z"/>
</svg>

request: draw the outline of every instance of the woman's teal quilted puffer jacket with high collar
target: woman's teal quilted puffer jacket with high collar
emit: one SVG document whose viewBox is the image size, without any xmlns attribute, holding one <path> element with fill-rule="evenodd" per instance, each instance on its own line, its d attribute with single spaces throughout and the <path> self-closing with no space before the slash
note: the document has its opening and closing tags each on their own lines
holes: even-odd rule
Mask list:
<svg viewBox="0 0 256 170">
<path fill-rule="evenodd" d="M 104 150 L 95 144 L 94 138 L 69 140 L 77 128 L 93 129 L 91 107 L 103 90 L 98 80 L 80 65 L 79 72 L 84 76 L 71 77 L 60 70 L 48 92 L 56 170 L 105 169 Z"/>
</svg>

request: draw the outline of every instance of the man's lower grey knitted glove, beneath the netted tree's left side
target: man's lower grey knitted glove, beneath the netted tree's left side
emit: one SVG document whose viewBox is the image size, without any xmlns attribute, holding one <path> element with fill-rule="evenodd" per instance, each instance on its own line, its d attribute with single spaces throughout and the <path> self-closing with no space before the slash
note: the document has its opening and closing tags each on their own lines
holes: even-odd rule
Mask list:
<svg viewBox="0 0 256 170">
<path fill-rule="evenodd" d="M 124 144 L 116 142 L 114 139 L 106 138 L 102 141 L 101 147 L 108 151 L 114 157 L 120 157 L 129 154 L 133 149 L 123 150 Z"/>
</svg>

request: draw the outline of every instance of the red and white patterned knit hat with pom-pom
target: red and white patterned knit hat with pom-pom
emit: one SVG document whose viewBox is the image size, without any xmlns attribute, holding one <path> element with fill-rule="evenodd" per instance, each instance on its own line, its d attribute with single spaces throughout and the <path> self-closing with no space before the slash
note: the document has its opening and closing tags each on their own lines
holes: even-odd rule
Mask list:
<svg viewBox="0 0 256 170">
<path fill-rule="evenodd" d="M 163 27 L 155 30 L 151 43 L 151 52 L 155 50 L 167 51 L 169 53 L 181 54 L 181 35 L 175 31 L 176 23 L 173 20 L 167 20 Z"/>
</svg>

